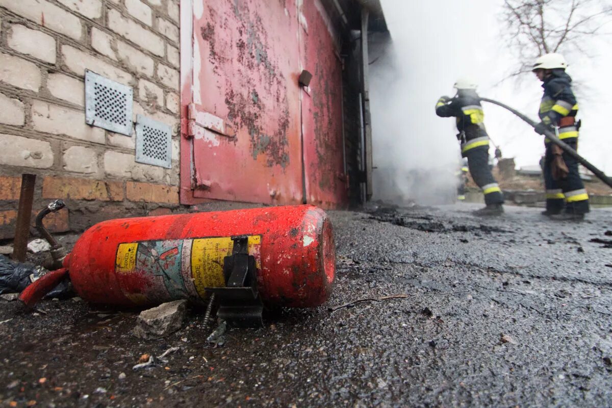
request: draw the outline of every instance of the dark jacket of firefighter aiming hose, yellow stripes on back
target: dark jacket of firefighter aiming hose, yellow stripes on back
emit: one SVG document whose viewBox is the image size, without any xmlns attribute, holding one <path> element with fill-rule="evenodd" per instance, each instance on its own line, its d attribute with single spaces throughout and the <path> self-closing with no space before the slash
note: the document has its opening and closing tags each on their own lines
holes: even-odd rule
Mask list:
<svg viewBox="0 0 612 408">
<path fill-rule="evenodd" d="M 488 137 L 484 124 L 485 114 L 476 91 L 458 91 L 450 103 L 440 98 L 436 103 L 436 114 L 441 117 L 455 116 L 457 130 L 465 132 L 466 141 Z"/>
</svg>

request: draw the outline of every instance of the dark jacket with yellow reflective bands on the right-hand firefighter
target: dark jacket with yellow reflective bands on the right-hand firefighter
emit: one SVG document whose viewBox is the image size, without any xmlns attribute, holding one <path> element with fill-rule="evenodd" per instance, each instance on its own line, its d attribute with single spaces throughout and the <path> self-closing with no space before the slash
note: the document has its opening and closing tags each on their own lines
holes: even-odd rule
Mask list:
<svg viewBox="0 0 612 408">
<path fill-rule="evenodd" d="M 542 84 L 544 95 L 539 116 L 543 124 L 559 127 L 559 139 L 578 137 L 575 125 L 578 103 L 571 86 L 572 78 L 562 69 L 554 69 Z"/>
</svg>

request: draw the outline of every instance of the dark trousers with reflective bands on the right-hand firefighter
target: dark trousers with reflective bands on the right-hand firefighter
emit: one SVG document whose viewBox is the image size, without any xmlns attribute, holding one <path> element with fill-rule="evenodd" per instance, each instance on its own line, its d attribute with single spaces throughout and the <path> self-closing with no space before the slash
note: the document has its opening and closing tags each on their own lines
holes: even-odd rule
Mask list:
<svg viewBox="0 0 612 408">
<path fill-rule="evenodd" d="M 572 149 L 578 147 L 577 138 L 565 139 Z M 563 152 L 563 160 L 569 169 L 565 179 L 554 180 L 551 172 L 553 154 L 550 149 L 551 143 L 546 144 L 544 156 L 544 185 L 546 187 L 546 209 L 550 213 L 559 213 L 563 209 L 573 214 L 584 214 L 589 212 L 589 195 L 584 190 L 584 184 L 578 173 L 578 161 Z"/>
</svg>

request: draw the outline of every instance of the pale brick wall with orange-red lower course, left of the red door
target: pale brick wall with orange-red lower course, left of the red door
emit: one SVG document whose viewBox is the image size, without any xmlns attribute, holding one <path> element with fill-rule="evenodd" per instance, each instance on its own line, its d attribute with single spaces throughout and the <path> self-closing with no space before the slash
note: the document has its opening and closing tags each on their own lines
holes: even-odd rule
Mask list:
<svg viewBox="0 0 612 408">
<path fill-rule="evenodd" d="M 179 206 L 179 0 L 0 0 L 0 239 L 20 174 L 54 231 Z M 84 72 L 131 86 L 136 114 L 173 128 L 172 168 L 135 162 L 135 133 L 85 124 Z"/>
</svg>

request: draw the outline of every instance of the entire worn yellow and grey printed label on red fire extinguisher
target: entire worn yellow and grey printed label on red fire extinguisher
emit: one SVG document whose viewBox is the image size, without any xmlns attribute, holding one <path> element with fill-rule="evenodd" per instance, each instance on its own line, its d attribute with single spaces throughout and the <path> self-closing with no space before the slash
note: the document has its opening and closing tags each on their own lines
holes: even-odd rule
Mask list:
<svg viewBox="0 0 612 408">
<path fill-rule="evenodd" d="M 260 247 L 261 236 L 248 237 L 248 253 L 255 256 L 258 268 Z M 121 243 L 115 270 L 119 275 L 138 273 L 143 279 L 137 281 L 141 283 L 137 288 L 122 285 L 124 294 L 135 303 L 205 298 L 205 287 L 225 286 L 223 259 L 233 248 L 230 237 Z"/>
</svg>

